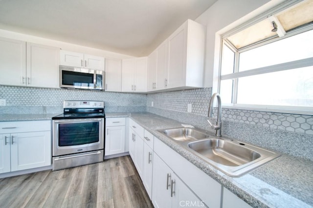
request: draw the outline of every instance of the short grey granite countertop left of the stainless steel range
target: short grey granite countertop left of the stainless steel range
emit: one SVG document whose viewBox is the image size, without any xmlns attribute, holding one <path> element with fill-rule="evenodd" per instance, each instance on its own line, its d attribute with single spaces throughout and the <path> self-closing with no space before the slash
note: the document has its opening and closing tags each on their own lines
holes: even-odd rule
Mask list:
<svg viewBox="0 0 313 208">
<path fill-rule="evenodd" d="M 50 120 L 59 114 L 0 114 L 0 122 Z"/>
</svg>

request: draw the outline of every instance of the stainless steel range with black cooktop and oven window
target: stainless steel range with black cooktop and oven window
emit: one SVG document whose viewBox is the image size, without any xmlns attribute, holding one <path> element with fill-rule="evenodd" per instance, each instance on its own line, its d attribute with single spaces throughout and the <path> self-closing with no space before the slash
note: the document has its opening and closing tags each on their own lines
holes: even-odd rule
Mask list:
<svg viewBox="0 0 313 208">
<path fill-rule="evenodd" d="M 105 114 L 102 101 L 64 101 L 52 118 L 52 170 L 103 161 Z"/>
</svg>

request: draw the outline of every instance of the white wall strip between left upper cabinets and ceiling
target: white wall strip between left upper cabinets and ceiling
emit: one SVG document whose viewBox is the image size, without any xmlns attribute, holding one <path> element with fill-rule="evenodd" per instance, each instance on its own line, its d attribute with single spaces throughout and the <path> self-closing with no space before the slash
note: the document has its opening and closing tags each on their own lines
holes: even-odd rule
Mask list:
<svg viewBox="0 0 313 208">
<path fill-rule="evenodd" d="M 40 38 L 36 36 L 31 36 L 31 35 L 25 35 L 22 33 L 16 33 L 16 32 L 2 30 L 2 29 L 0 29 L 0 37 L 59 47 L 59 48 L 62 48 L 63 50 L 85 53 L 85 54 L 94 55 L 94 56 L 110 57 L 110 58 L 117 58 L 117 59 L 133 58 L 132 56 L 128 56 L 124 54 L 113 53 L 110 51 L 90 48 L 90 47 L 71 44 L 67 42 L 55 41 L 51 39 Z"/>
</svg>

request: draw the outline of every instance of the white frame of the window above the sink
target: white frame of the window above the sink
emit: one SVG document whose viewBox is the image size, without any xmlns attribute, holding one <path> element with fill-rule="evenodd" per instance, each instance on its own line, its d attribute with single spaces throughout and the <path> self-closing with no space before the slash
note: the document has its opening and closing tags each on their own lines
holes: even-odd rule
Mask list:
<svg viewBox="0 0 313 208">
<path fill-rule="evenodd" d="M 258 21 L 262 21 L 264 19 L 267 19 L 269 16 L 272 16 L 274 14 L 277 14 L 278 12 L 281 12 L 300 1 L 297 0 L 291 0 L 287 3 L 284 3 L 282 5 L 279 5 L 276 8 L 273 8 L 263 14 L 262 16 L 258 16 L 250 21 L 247 21 L 246 23 L 239 25 L 235 29 L 229 30 L 225 32 L 224 34 L 220 35 L 220 53 L 219 53 L 219 75 L 218 75 L 218 92 L 221 90 L 221 81 L 222 80 L 233 80 L 233 87 L 232 87 L 232 103 L 231 104 L 225 104 L 222 103 L 224 108 L 231 108 L 231 109 L 243 109 L 243 110 L 257 110 L 257 111 L 270 111 L 270 112 L 279 112 L 279 113 L 291 113 L 291 114 L 305 114 L 305 115 L 313 115 L 313 106 L 289 106 L 289 105 L 258 105 L 258 104 L 237 104 L 237 91 L 238 91 L 238 78 L 246 77 L 246 76 L 252 76 L 252 75 L 259 75 L 259 74 L 265 74 L 265 73 L 271 73 L 271 72 L 277 72 L 277 71 L 284 71 L 289 69 L 295 69 L 295 68 L 302 68 L 306 66 L 313 66 L 313 57 L 291 61 L 291 62 L 284 62 L 279 64 L 274 64 L 270 66 L 250 69 L 246 71 L 239 72 L 239 57 L 240 53 L 251 50 L 256 47 L 260 47 L 265 44 L 269 44 L 271 42 L 280 41 L 285 38 L 289 38 L 293 35 L 300 34 L 309 30 L 313 30 L 313 23 L 302 26 L 300 28 L 293 29 L 286 33 L 284 37 L 278 37 L 278 35 L 274 37 L 270 37 L 268 39 L 262 40 L 260 42 L 253 43 L 251 45 L 245 46 L 240 49 L 236 49 L 234 46 L 232 46 L 231 43 L 227 42 L 226 38 L 257 23 Z M 223 46 L 224 44 L 229 47 L 234 52 L 234 70 L 231 74 L 224 74 L 221 75 L 221 69 L 222 69 L 222 54 L 223 54 Z M 222 100 L 223 101 L 223 100 Z"/>
</svg>

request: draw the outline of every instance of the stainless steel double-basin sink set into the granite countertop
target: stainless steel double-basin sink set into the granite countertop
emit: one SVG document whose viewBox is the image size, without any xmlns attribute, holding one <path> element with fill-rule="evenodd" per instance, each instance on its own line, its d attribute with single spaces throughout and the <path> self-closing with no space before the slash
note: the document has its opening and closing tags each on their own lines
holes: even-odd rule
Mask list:
<svg viewBox="0 0 313 208">
<path fill-rule="evenodd" d="M 216 137 L 197 128 L 181 127 L 158 131 L 232 177 L 241 176 L 280 156 L 257 146 Z"/>
</svg>

